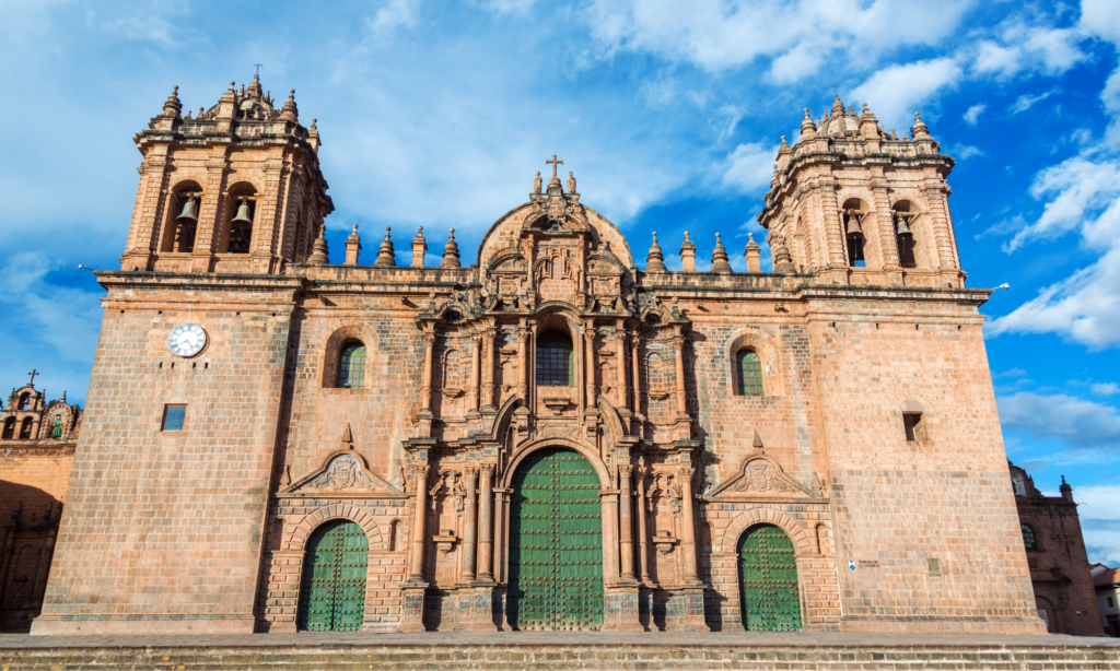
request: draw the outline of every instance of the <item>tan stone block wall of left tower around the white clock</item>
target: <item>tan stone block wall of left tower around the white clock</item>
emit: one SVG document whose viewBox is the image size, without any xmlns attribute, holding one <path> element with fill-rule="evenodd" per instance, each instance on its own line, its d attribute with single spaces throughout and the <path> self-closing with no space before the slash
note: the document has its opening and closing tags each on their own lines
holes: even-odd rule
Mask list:
<svg viewBox="0 0 1120 671">
<path fill-rule="evenodd" d="M 252 631 L 293 282 L 114 277 L 32 631 Z M 192 359 L 167 349 L 184 322 L 208 336 Z"/>
</svg>

